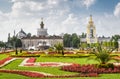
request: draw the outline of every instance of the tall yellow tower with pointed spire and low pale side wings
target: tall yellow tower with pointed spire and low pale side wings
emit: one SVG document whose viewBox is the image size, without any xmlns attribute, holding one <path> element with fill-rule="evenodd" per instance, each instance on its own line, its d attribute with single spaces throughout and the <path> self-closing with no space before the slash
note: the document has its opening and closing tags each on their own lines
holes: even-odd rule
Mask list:
<svg viewBox="0 0 120 79">
<path fill-rule="evenodd" d="M 110 37 L 97 37 L 96 35 L 96 27 L 92 20 L 92 15 L 90 15 L 90 20 L 87 25 L 87 36 L 86 38 L 81 38 L 81 42 L 85 42 L 87 44 L 97 43 L 97 42 L 109 42 L 111 40 Z"/>
</svg>

